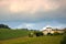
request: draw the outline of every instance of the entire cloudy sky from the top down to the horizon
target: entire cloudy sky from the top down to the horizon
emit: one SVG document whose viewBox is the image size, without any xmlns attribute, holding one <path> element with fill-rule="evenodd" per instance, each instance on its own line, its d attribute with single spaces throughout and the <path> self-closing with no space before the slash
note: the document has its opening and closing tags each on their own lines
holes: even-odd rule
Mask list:
<svg viewBox="0 0 66 44">
<path fill-rule="evenodd" d="M 12 29 L 66 28 L 66 0 L 0 0 L 0 24 Z"/>
</svg>

